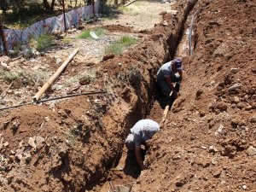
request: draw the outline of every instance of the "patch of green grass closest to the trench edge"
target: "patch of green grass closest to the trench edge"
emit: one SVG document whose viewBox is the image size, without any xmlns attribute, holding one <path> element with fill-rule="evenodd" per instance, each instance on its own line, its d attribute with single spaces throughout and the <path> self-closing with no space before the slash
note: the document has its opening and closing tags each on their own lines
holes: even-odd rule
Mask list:
<svg viewBox="0 0 256 192">
<path fill-rule="evenodd" d="M 114 55 L 120 55 L 127 47 L 137 44 L 138 39 L 129 36 L 123 36 L 116 40 L 113 44 L 105 47 L 105 54 L 113 53 Z"/>
</svg>

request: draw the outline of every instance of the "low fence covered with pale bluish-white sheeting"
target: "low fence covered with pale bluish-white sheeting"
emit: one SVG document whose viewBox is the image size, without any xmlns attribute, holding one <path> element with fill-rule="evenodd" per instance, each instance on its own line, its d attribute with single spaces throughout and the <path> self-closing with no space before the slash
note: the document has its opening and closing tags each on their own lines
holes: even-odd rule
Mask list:
<svg viewBox="0 0 256 192">
<path fill-rule="evenodd" d="M 71 28 L 79 23 L 79 21 L 91 18 L 93 13 L 96 15 L 99 12 L 100 3 L 96 1 L 94 6 L 87 5 L 79 9 L 73 9 L 66 13 L 66 25 L 67 29 Z M 3 37 L 6 41 L 6 46 L 8 50 L 14 48 L 16 44 L 26 44 L 29 41 L 29 38 L 38 38 L 41 34 L 50 34 L 55 30 L 61 30 L 64 32 L 64 16 L 59 15 L 56 17 L 50 17 L 45 20 L 40 20 L 37 23 L 32 24 L 32 26 L 26 27 L 24 30 L 16 29 L 3 29 Z M 3 41 L 0 38 L 0 52 L 3 53 L 4 46 Z"/>
</svg>

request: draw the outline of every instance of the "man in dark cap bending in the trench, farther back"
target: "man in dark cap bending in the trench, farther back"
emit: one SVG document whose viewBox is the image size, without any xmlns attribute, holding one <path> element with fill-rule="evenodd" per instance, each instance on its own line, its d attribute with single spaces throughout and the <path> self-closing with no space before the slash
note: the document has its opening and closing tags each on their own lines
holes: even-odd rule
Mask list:
<svg viewBox="0 0 256 192">
<path fill-rule="evenodd" d="M 160 86 L 165 96 L 173 96 L 177 98 L 177 90 L 174 88 L 174 82 L 180 84 L 183 78 L 183 62 L 181 58 L 163 64 L 157 73 L 157 84 Z"/>
</svg>

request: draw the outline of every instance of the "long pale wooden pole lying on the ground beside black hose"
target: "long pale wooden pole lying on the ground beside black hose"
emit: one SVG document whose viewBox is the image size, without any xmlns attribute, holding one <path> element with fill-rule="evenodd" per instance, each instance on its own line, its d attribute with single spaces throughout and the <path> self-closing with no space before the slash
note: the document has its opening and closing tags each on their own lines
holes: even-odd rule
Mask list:
<svg viewBox="0 0 256 192">
<path fill-rule="evenodd" d="M 67 57 L 67 60 L 62 63 L 61 67 L 59 67 L 57 71 L 44 84 L 44 86 L 40 90 L 38 90 L 38 93 L 32 97 L 34 102 L 38 102 L 38 100 L 41 98 L 44 92 L 48 90 L 50 85 L 55 82 L 55 80 L 60 76 L 61 72 L 65 69 L 65 67 L 67 67 L 67 64 L 73 59 L 73 57 L 78 52 L 79 52 L 79 48 L 73 50 L 72 54 Z"/>
</svg>

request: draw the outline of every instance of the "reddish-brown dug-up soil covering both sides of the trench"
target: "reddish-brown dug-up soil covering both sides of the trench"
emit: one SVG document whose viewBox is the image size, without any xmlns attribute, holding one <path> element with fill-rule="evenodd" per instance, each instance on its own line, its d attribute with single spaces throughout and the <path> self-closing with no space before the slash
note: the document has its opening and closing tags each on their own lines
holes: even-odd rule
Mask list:
<svg viewBox="0 0 256 192">
<path fill-rule="evenodd" d="M 192 8 L 188 2 L 177 3 L 177 17 L 163 15 L 168 26 L 154 26 L 124 55 L 92 65 L 96 80 L 90 89 L 106 87 L 107 94 L 4 113 L 0 189 L 106 191 L 106 180 L 131 184 L 132 191 L 256 189 L 255 155 L 247 154 L 249 146 L 256 148 L 254 0 L 197 3 L 195 53 L 184 55 L 181 96 L 166 128 L 153 138 L 148 170 L 139 176 L 136 162 L 126 162 L 125 150 L 122 154 L 138 119 L 160 122 L 163 109 L 153 100 L 154 77 L 175 55 L 184 15 Z M 75 71 L 67 73 L 87 65 L 74 62 Z M 132 76 L 134 70 L 141 81 Z M 234 84 L 241 86 L 230 90 Z M 125 172 L 117 171 L 119 165 L 126 166 Z"/>
</svg>

